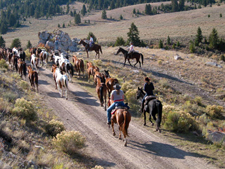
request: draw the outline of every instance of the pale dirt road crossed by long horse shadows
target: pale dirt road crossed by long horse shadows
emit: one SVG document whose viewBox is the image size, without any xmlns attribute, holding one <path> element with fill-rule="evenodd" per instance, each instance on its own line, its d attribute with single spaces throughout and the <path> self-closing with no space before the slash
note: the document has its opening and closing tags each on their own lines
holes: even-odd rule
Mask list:
<svg viewBox="0 0 225 169">
<path fill-rule="evenodd" d="M 52 73 L 39 71 L 39 90 L 44 101 L 64 122 L 68 130 L 77 130 L 86 137 L 87 152 L 104 168 L 215 168 L 201 156 L 177 148 L 161 139 L 150 127 L 131 120 L 128 146 L 112 135 L 106 124 L 106 112 L 99 101 L 76 83 L 69 83 L 69 99 L 60 98 Z"/>
</svg>

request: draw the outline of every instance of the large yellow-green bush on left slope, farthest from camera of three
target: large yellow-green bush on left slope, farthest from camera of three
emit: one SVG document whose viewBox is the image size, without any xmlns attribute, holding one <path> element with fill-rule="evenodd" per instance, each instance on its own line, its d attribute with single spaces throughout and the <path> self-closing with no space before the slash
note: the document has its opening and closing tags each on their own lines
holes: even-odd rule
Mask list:
<svg viewBox="0 0 225 169">
<path fill-rule="evenodd" d="M 37 113 L 32 102 L 24 98 L 16 99 L 12 113 L 26 120 L 37 120 Z"/>
</svg>

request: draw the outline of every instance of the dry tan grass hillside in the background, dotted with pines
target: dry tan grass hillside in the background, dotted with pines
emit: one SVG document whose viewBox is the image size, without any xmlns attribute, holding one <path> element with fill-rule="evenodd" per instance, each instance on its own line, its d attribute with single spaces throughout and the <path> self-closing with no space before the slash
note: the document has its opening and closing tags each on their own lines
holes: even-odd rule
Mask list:
<svg viewBox="0 0 225 169">
<path fill-rule="evenodd" d="M 167 2 L 168 3 L 168 2 Z M 161 5 L 160 3 L 151 4 L 152 6 Z M 72 8 L 81 9 L 82 3 L 76 2 Z M 132 22 L 138 27 L 140 38 L 151 41 L 151 39 L 162 39 L 166 41 L 167 36 L 173 38 L 194 37 L 197 33 L 197 28 L 200 26 L 203 36 L 208 37 L 213 28 L 216 28 L 220 36 L 224 36 L 225 17 L 220 18 L 219 14 L 224 12 L 224 4 L 221 6 L 213 5 L 213 7 L 206 7 L 198 10 L 167 13 L 153 16 L 133 17 L 133 9 L 144 11 L 145 4 L 123 7 L 107 11 L 107 16 L 118 19 L 123 15 L 124 20 L 102 20 L 102 11 L 94 11 L 82 18 L 90 20 L 91 24 L 87 26 L 70 26 L 62 28 L 67 32 L 71 38 L 86 38 L 89 32 L 93 32 L 98 39 L 98 42 L 115 41 L 117 37 L 127 39 L 127 32 L 129 31 Z M 78 10 L 79 11 L 79 10 Z M 210 14 L 210 18 L 208 18 Z M 35 46 L 38 43 L 38 32 L 48 31 L 53 32 L 58 29 L 58 24 L 68 25 L 74 23 L 74 18 L 69 15 L 57 16 L 52 19 L 32 19 L 22 23 L 22 28 L 9 31 L 3 35 L 6 41 L 6 46 L 10 46 L 12 40 L 19 38 L 22 41 L 22 46 L 27 45 L 28 40 Z"/>
</svg>

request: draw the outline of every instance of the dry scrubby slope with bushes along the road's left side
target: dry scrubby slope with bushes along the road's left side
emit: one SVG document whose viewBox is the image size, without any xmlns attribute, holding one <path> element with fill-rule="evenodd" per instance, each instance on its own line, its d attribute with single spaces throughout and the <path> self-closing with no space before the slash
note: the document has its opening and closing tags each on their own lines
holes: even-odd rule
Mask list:
<svg viewBox="0 0 225 169">
<path fill-rule="evenodd" d="M 40 95 L 0 60 L 0 161 L 13 168 L 95 168 L 85 138 L 68 131 Z M 101 166 L 97 166 L 101 168 Z"/>
</svg>

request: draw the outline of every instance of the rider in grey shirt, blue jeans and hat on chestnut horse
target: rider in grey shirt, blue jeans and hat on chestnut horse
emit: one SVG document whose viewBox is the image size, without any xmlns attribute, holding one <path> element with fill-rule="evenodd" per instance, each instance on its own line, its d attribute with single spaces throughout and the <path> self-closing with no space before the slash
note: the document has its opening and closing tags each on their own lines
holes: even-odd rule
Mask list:
<svg viewBox="0 0 225 169">
<path fill-rule="evenodd" d="M 129 106 L 125 104 L 124 101 L 124 93 L 122 90 L 120 90 L 120 85 L 116 84 L 114 86 L 115 90 L 111 92 L 110 99 L 113 101 L 113 103 L 109 106 L 107 109 L 107 124 L 111 124 L 111 111 L 115 109 L 118 106 L 127 107 L 129 109 Z"/>
</svg>

